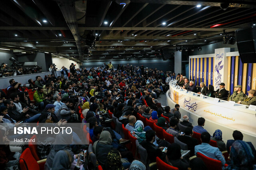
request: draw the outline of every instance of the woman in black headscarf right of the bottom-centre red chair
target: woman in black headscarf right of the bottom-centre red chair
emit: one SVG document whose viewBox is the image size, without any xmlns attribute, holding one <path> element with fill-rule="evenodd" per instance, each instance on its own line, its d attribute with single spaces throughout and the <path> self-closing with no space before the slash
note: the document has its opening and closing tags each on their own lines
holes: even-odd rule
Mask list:
<svg viewBox="0 0 256 170">
<path fill-rule="evenodd" d="M 172 143 L 168 147 L 166 162 L 179 170 L 188 170 L 189 167 L 188 161 L 181 156 L 180 145 L 177 143 Z"/>
</svg>

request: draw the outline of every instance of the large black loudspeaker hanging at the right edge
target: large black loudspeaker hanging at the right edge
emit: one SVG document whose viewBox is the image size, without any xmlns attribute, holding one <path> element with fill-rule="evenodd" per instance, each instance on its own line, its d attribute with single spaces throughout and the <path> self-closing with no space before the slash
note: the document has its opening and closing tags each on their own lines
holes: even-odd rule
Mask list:
<svg viewBox="0 0 256 170">
<path fill-rule="evenodd" d="M 242 63 L 256 63 L 256 27 L 238 29 L 235 32 Z"/>
</svg>

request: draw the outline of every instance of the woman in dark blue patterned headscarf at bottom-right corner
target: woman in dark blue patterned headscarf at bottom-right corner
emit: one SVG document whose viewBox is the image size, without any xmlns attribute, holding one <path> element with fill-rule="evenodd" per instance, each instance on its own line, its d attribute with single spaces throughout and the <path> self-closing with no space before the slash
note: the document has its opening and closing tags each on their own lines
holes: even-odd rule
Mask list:
<svg viewBox="0 0 256 170">
<path fill-rule="evenodd" d="M 250 146 L 241 140 L 236 140 L 230 149 L 231 163 L 225 170 L 256 170 L 256 166 L 252 164 L 254 155 Z"/>
</svg>

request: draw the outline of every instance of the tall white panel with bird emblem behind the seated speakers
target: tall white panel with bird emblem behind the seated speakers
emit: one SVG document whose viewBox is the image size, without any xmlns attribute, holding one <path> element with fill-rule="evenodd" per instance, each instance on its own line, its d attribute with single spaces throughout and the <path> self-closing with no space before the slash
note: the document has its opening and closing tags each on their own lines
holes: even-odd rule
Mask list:
<svg viewBox="0 0 256 170">
<path fill-rule="evenodd" d="M 214 90 L 217 90 L 219 84 L 224 82 L 227 85 L 228 80 L 228 59 L 226 53 L 230 52 L 230 48 L 215 49 L 214 53 Z"/>
</svg>

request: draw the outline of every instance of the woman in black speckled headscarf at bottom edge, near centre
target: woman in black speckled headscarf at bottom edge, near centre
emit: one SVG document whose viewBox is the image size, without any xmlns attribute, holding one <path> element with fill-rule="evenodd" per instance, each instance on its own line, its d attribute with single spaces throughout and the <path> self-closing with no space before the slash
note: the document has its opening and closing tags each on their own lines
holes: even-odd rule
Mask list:
<svg viewBox="0 0 256 170">
<path fill-rule="evenodd" d="M 124 170 L 121 154 L 118 150 L 110 150 L 108 152 L 106 167 L 108 170 Z"/>
</svg>

